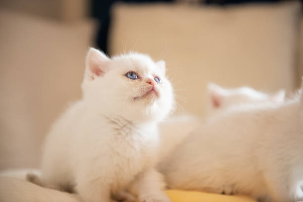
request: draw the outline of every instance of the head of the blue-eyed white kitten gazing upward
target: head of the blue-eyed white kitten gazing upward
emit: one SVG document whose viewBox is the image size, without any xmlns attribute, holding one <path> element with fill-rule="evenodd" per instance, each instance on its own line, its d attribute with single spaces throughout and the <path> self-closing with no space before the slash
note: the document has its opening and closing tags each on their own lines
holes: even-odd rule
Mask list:
<svg viewBox="0 0 303 202">
<path fill-rule="evenodd" d="M 97 111 L 136 122 L 160 120 L 174 103 L 165 62 L 139 53 L 109 58 L 91 48 L 82 89 L 84 101 Z"/>
</svg>

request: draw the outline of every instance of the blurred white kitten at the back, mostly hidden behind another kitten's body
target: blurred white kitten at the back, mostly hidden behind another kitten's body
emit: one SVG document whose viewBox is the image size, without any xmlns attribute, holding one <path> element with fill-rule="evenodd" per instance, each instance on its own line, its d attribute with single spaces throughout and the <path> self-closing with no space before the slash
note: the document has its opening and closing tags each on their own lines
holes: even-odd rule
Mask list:
<svg viewBox="0 0 303 202">
<path fill-rule="evenodd" d="M 225 110 L 239 105 L 249 104 L 279 104 L 285 101 L 285 91 L 280 90 L 274 94 L 265 94 L 249 87 L 225 89 L 214 83 L 207 85 L 208 116 L 224 113 Z M 161 134 L 160 160 L 167 156 L 180 144 L 184 138 L 192 133 L 199 125 L 201 119 L 191 115 L 171 117 L 159 124 Z"/>
</svg>

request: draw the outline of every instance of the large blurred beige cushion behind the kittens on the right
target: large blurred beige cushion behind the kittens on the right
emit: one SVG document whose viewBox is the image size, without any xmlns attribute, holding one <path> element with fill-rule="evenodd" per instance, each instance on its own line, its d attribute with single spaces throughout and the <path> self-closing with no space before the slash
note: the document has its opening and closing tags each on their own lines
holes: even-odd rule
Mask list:
<svg viewBox="0 0 303 202">
<path fill-rule="evenodd" d="M 295 88 L 299 10 L 299 2 L 226 8 L 118 4 L 110 52 L 134 50 L 166 60 L 177 101 L 202 115 L 209 81 L 267 92 Z"/>
</svg>

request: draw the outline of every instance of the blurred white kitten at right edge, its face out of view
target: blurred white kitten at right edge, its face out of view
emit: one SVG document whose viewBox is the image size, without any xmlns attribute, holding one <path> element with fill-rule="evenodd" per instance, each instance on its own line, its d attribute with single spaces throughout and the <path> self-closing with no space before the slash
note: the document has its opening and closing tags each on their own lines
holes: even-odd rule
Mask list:
<svg viewBox="0 0 303 202">
<path fill-rule="evenodd" d="M 173 189 L 303 200 L 303 94 L 213 116 L 176 148 L 161 172 Z"/>
</svg>

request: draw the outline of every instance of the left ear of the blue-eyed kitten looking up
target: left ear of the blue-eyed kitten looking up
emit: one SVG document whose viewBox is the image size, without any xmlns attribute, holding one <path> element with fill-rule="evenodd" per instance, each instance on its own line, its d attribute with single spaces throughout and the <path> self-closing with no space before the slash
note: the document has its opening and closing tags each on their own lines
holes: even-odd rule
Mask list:
<svg viewBox="0 0 303 202">
<path fill-rule="evenodd" d="M 108 69 L 109 58 L 100 50 L 90 48 L 86 56 L 84 80 L 95 80 Z"/>
</svg>

